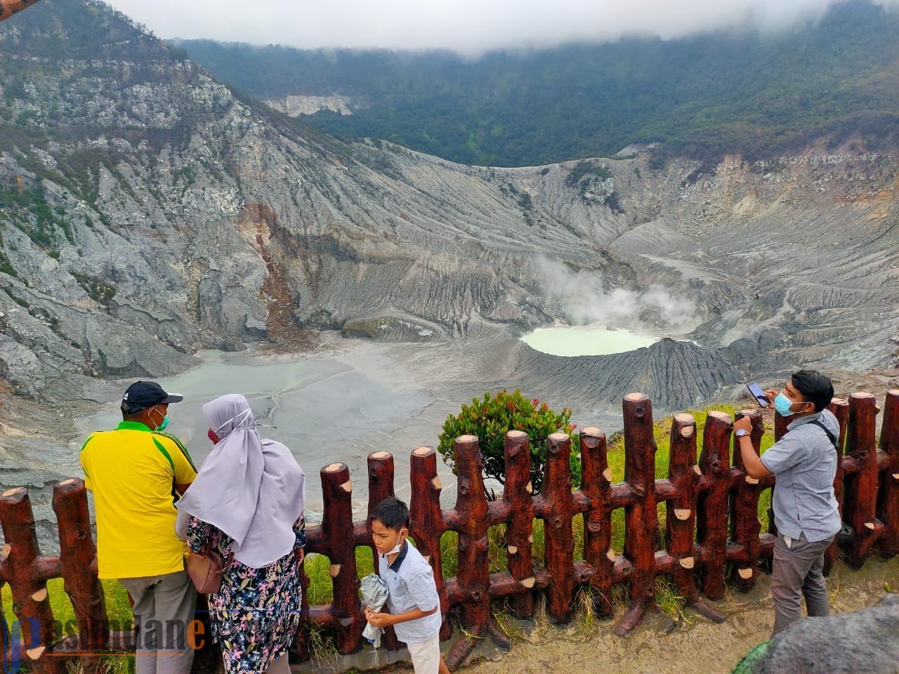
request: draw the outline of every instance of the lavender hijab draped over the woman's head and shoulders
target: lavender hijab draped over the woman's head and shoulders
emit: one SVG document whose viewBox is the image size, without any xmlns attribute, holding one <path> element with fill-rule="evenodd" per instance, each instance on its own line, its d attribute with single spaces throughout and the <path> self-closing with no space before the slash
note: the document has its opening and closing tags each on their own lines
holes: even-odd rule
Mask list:
<svg viewBox="0 0 899 674">
<path fill-rule="evenodd" d="M 266 566 L 293 549 L 306 475 L 288 448 L 259 437 L 243 395 L 222 395 L 203 414 L 219 440 L 175 504 L 176 528 L 183 537 L 189 515 L 209 522 L 234 539 L 238 562 Z"/>
</svg>

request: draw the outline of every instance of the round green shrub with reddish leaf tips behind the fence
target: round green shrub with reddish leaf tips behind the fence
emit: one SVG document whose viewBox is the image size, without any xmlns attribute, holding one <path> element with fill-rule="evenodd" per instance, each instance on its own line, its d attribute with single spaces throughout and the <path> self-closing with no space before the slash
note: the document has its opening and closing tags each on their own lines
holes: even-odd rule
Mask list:
<svg viewBox="0 0 899 674">
<path fill-rule="evenodd" d="M 484 456 L 485 477 L 493 477 L 505 483 L 504 438 L 509 430 L 523 430 L 530 439 L 530 481 L 534 492 L 539 492 L 543 484 L 543 466 L 547 460 L 547 438 L 551 433 L 568 433 L 575 445 L 574 424 L 570 423 L 571 410 L 562 412 L 550 410 L 546 403 L 537 398 L 528 399 L 515 389 L 514 393 L 500 391 L 496 395 L 484 394 L 483 399 L 474 398 L 470 405 L 462 405 L 457 415 L 450 414 L 443 422 L 440 444 L 437 450 L 443 461 L 456 470 L 453 456 L 453 441 L 460 435 L 476 435 L 481 454 Z M 575 445 L 576 447 L 576 445 Z M 571 457 L 572 482 L 581 483 L 581 463 L 576 451 Z"/>
</svg>

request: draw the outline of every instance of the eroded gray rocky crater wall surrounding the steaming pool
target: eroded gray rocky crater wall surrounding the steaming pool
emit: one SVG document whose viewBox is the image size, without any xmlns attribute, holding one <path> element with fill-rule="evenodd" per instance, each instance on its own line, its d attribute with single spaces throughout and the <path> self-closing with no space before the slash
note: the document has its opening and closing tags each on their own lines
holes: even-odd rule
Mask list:
<svg viewBox="0 0 899 674">
<path fill-rule="evenodd" d="M 81 0 L 0 25 L 0 87 L 0 377 L 18 393 L 307 328 L 514 336 L 601 320 L 614 288 L 636 298 L 615 323 L 697 343 L 552 374 L 521 350 L 519 374 L 645 388 L 683 359 L 696 386 L 657 392 L 677 405 L 746 374 L 895 362 L 895 155 L 451 164 L 305 129 Z"/>
</svg>

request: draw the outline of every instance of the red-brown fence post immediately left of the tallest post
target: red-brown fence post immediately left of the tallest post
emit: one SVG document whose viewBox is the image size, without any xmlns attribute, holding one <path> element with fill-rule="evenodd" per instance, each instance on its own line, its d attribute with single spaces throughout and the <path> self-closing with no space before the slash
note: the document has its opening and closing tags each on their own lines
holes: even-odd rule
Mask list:
<svg viewBox="0 0 899 674">
<path fill-rule="evenodd" d="M 593 569 L 590 584 L 598 594 L 593 606 L 601 617 L 611 617 L 614 612 L 611 480 L 606 434 L 598 428 L 585 428 L 581 432 L 581 492 L 587 499 L 587 510 L 583 513 L 583 556 Z"/>
</svg>

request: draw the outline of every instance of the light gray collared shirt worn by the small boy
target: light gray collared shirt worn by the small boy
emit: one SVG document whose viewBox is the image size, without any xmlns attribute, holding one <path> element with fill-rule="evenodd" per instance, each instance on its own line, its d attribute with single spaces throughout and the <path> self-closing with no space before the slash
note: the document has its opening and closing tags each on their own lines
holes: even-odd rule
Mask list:
<svg viewBox="0 0 899 674">
<path fill-rule="evenodd" d="M 425 613 L 437 607 L 430 616 L 407 620 L 394 625 L 396 638 L 405 643 L 417 643 L 430 639 L 441 631 L 441 598 L 434 583 L 431 564 L 408 541 L 396 555 L 394 563 L 387 565 L 387 557 L 381 555 L 380 577 L 387 583 L 387 607 L 396 616 L 399 613 L 421 608 Z"/>
</svg>

